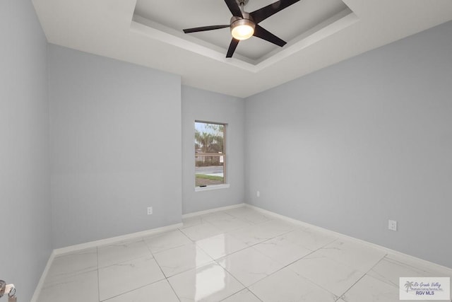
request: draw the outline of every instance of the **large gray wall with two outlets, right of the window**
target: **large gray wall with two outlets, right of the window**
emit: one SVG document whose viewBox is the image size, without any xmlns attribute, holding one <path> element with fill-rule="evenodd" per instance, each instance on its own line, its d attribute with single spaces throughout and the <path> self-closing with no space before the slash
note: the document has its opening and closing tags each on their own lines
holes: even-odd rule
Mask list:
<svg viewBox="0 0 452 302">
<path fill-rule="evenodd" d="M 452 267 L 451 84 L 449 22 L 246 99 L 247 202 Z"/>
</svg>

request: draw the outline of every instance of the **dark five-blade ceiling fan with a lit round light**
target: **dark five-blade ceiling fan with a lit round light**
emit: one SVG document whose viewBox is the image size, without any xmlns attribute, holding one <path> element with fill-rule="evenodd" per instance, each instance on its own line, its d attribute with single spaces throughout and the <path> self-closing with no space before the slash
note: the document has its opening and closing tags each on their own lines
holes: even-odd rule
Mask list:
<svg viewBox="0 0 452 302">
<path fill-rule="evenodd" d="M 240 40 L 246 40 L 252 36 L 260 37 L 263 40 L 272 42 L 275 45 L 283 47 L 286 42 L 279 37 L 273 35 L 268 30 L 264 29 L 261 25 L 258 25 L 266 18 L 273 16 L 278 11 L 282 11 L 287 6 L 295 4 L 299 0 L 280 0 L 273 4 L 259 8 L 252 13 L 244 11 L 244 6 L 249 0 L 225 0 L 227 7 L 232 13 L 230 24 L 227 25 L 210 25 L 202 26 L 199 28 L 187 28 L 184 29 L 184 33 L 196 33 L 206 30 L 218 30 L 220 28 L 231 28 L 232 41 L 227 50 L 226 57 L 232 57 Z"/>
</svg>

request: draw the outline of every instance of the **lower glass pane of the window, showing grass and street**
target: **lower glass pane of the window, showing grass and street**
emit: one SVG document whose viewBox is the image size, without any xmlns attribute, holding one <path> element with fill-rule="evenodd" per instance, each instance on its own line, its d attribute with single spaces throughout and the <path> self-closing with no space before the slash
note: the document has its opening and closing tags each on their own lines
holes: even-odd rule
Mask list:
<svg viewBox="0 0 452 302">
<path fill-rule="evenodd" d="M 196 156 L 196 187 L 225 183 L 225 156 Z"/>
</svg>

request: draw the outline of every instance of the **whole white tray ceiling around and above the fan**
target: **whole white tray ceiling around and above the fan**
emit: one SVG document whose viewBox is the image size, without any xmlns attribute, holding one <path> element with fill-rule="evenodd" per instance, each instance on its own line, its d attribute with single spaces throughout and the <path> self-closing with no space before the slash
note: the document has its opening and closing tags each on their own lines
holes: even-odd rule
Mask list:
<svg viewBox="0 0 452 302">
<path fill-rule="evenodd" d="M 250 0 L 254 11 L 275 0 Z M 287 42 L 251 37 L 225 54 L 223 0 L 32 0 L 50 43 L 179 74 L 182 83 L 247 97 L 452 20 L 451 0 L 301 0 L 260 23 Z"/>
</svg>

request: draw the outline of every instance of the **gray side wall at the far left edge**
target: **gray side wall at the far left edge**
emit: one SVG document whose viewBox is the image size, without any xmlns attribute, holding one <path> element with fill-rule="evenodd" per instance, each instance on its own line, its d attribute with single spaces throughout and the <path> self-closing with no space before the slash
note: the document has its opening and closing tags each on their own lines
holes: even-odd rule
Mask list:
<svg viewBox="0 0 452 302">
<path fill-rule="evenodd" d="M 0 1 L 0 37 L 0 279 L 30 301 L 52 249 L 47 42 L 31 1 Z"/>
</svg>

